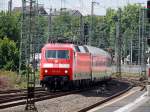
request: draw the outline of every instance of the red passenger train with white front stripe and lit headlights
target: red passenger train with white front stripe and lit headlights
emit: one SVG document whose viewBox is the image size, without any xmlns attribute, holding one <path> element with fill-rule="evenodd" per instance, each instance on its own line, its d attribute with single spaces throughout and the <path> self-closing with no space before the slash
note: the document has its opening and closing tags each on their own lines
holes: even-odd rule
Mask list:
<svg viewBox="0 0 150 112">
<path fill-rule="evenodd" d="M 89 45 L 49 43 L 41 51 L 40 84 L 49 89 L 111 79 L 111 55 Z"/>
</svg>

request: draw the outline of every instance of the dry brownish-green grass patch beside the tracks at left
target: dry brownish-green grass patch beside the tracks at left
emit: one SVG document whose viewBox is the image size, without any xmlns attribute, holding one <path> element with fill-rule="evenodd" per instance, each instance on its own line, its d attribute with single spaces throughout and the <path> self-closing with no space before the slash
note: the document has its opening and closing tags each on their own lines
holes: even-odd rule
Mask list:
<svg viewBox="0 0 150 112">
<path fill-rule="evenodd" d="M 38 83 L 39 72 L 36 72 Z M 18 75 L 16 72 L 0 70 L 0 90 L 23 89 L 27 87 L 26 75 Z"/>
</svg>

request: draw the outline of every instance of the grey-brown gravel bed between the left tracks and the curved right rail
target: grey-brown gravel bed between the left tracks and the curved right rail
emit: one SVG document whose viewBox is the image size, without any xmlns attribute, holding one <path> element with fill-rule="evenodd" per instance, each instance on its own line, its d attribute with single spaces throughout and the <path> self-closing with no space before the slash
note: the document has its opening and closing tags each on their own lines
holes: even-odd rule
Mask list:
<svg viewBox="0 0 150 112">
<path fill-rule="evenodd" d="M 128 88 L 128 86 L 127 83 L 111 81 L 107 86 L 101 86 L 94 90 L 36 102 L 36 107 L 38 112 L 77 112 Z M 24 112 L 24 109 L 25 105 L 3 109 L 0 112 Z"/>
</svg>

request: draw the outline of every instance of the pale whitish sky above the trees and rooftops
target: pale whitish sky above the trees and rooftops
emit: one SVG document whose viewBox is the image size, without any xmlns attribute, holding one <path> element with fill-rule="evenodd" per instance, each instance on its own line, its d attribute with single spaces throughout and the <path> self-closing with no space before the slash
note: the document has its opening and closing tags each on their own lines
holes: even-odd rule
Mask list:
<svg viewBox="0 0 150 112">
<path fill-rule="evenodd" d="M 0 0 L 0 10 L 7 10 L 9 0 Z M 21 6 L 22 0 L 12 0 L 13 7 Z M 118 7 L 123 7 L 127 4 L 142 3 L 146 6 L 147 0 L 93 0 L 97 2 L 94 5 L 95 15 L 105 15 L 107 8 L 117 9 Z M 91 13 L 91 2 L 92 0 L 38 0 L 39 4 L 44 5 L 46 10 L 69 8 L 79 10 L 83 15 Z"/>
</svg>

